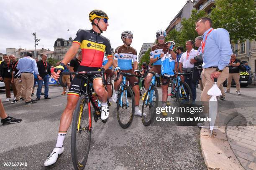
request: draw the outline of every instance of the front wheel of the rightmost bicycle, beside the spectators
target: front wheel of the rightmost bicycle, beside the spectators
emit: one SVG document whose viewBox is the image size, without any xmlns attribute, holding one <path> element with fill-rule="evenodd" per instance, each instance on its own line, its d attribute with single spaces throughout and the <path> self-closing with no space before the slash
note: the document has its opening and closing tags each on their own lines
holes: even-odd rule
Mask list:
<svg viewBox="0 0 256 170">
<path fill-rule="evenodd" d="M 192 103 L 192 91 L 186 82 L 180 82 L 177 91 L 177 104 L 191 104 Z"/>
</svg>

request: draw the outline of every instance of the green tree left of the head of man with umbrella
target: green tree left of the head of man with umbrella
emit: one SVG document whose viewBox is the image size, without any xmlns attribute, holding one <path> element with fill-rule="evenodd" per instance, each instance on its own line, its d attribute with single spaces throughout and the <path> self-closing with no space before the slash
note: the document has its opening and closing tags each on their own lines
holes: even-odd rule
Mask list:
<svg viewBox="0 0 256 170">
<path fill-rule="evenodd" d="M 174 41 L 176 43 L 176 47 L 183 46 L 185 49 L 187 40 L 194 41 L 195 38 L 198 37 L 198 34 L 195 31 L 195 23 L 199 18 L 203 16 L 205 16 L 204 11 L 197 13 L 197 10 L 192 10 L 190 18 L 184 18 L 181 21 L 182 30 L 177 31 L 176 29 L 173 29 L 170 31 L 167 35 L 166 41 Z"/>
</svg>

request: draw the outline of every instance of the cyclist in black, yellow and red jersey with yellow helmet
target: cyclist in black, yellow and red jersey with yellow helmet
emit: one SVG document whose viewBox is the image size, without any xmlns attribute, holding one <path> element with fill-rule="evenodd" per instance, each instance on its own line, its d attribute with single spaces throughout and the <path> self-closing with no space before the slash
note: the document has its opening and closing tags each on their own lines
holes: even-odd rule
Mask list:
<svg viewBox="0 0 256 170">
<path fill-rule="evenodd" d="M 92 30 L 80 29 L 77 31 L 77 37 L 73 40 L 72 46 L 65 54 L 64 59 L 59 66 L 54 67 L 54 70 L 58 70 L 56 73 L 52 73 L 55 80 L 59 78 L 59 74 L 64 70 L 65 65 L 77 54 L 79 47 L 82 50 L 82 61 L 77 71 L 97 71 L 102 67 L 104 51 L 106 51 L 108 57 L 108 62 L 104 66 L 104 69 L 107 70 L 108 67 L 112 65 L 113 57 L 110 41 L 100 34 L 108 28 L 108 15 L 101 10 L 92 10 L 89 14 L 89 19 L 92 22 Z M 105 120 L 108 118 L 109 114 L 107 104 L 108 92 L 102 84 L 101 75 L 96 74 L 89 78 L 93 80 L 93 89 L 101 101 L 101 119 Z M 44 166 L 54 164 L 58 156 L 64 151 L 63 141 L 72 121 L 72 113 L 79 100 L 79 95 L 81 94 L 81 84 L 81 77 L 75 76 L 68 92 L 67 106 L 61 115 L 56 146 L 48 155 Z"/>
</svg>

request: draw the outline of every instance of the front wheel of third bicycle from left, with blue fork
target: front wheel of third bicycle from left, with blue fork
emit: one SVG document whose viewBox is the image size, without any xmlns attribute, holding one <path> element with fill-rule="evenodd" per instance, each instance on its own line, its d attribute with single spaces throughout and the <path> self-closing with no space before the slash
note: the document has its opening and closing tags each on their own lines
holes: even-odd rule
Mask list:
<svg viewBox="0 0 256 170">
<path fill-rule="evenodd" d="M 143 125 L 148 126 L 154 119 L 156 107 L 158 106 L 158 91 L 155 86 L 146 92 L 142 105 L 141 120 Z"/>
</svg>

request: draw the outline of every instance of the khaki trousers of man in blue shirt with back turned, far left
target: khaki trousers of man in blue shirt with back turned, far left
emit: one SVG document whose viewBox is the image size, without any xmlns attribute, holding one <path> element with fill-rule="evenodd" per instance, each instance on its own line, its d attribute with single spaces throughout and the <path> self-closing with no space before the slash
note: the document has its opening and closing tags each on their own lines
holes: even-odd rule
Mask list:
<svg viewBox="0 0 256 170">
<path fill-rule="evenodd" d="M 31 101 L 31 94 L 34 85 L 34 75 L 31 73 L 21 73 L 21 82 L 23 85 L 24 95 L 26 95 L 26 102 Z"/>
</svg>

